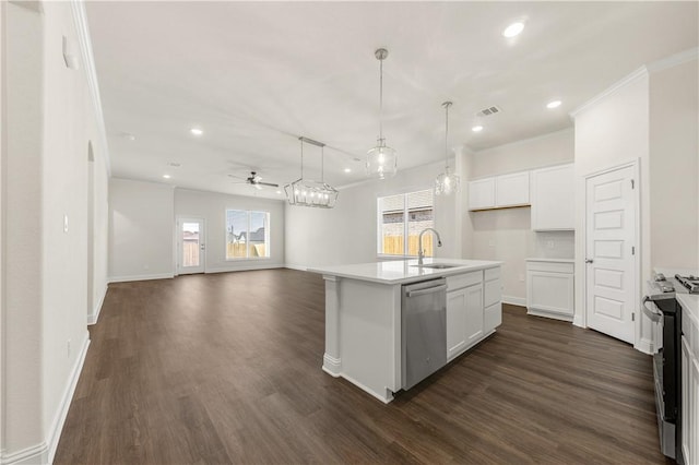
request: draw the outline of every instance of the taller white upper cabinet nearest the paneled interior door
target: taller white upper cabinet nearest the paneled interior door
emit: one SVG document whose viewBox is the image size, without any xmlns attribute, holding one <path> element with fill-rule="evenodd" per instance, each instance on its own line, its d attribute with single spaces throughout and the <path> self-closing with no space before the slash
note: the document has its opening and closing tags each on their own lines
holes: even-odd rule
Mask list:
<svg viewBox="0 0 699 465">
<path fill-rule="evenodd" d="M 559 165 L 532 171 L 532 229 L 572 230 L 576 228 L 573 165 Z"/>
</svg>

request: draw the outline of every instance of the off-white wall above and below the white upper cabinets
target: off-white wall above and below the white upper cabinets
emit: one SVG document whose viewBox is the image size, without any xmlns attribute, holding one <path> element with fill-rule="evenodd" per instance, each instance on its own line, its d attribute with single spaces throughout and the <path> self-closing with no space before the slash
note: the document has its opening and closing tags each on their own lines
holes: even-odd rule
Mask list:
<svg viewBox="0 0 699 465">
<path fill-rule="evenodd" d="M 495 175 L 524 171 L 573 160 L 573 131 L 566 129 L 550 134 L 518 141 L 464 155 L 462 176 L 467 180 Z M 531 208 L 517 207 L 469 212 L 467 188 L 463 190 L 464 257 L 500 260 L 502 264 L 502 298 L 518 305 L 526 302 L 525 259 L 572 259 L 573 233 L 534 233 L 531 230 Z M 545 247 L 553 240 L 554 248 Z M 467 252 L 465 252 L 467 251 Z"/>
</svg>

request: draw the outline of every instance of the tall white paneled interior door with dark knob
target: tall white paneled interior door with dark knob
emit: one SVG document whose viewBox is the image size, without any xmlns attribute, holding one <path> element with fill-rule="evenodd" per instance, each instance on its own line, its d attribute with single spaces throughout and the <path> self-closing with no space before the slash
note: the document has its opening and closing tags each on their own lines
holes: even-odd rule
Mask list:
<svg viewBox="0 0 699 465">
<path fill-rule="evenodd" d="M 635 167 L 587 179 L 588 326 L 635 343 L 637 196 Z"/>
</svg>

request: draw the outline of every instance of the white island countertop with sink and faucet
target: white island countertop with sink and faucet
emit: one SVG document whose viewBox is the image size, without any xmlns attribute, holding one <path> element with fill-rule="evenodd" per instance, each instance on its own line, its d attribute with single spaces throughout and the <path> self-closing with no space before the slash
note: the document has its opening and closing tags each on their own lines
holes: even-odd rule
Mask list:
<svg viewBox="0 0 699 465">
<path fill-rule="evenodd" d="M 356 263 L 351 265 L 318 266 L 310 267 L 308 269 L 308 271 L 311 273 L 321 273 L 323 275 L 369 281 L 380 284 L 405 284 L 424 281 L 425 278 L 449 276 L 454 274 L 467 273 L 471 271 L 491 269 L 495 266 L 500 266 L 502 264 L 502 262 L 493 262 L 485 260 L 455 259 L 425 259 L 424 263 L 446 263 L 457 266 L 441 270 L 417 267 L 415 266 L 417 264 L 417 259 L 413 259 Z"/>
</svg>

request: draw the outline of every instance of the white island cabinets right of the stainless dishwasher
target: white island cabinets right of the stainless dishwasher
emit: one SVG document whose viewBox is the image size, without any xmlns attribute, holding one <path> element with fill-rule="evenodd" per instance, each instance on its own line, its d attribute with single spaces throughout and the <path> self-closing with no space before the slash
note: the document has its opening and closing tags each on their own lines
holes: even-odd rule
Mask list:
<svg viewBox="0 0 699 465">
<path fill-rule="evenodd" d="M 501 322 L 499 269 L 495 274 L 485 270 L 447 277 L 448 360 L 483 339 Z"/>
</svg>

